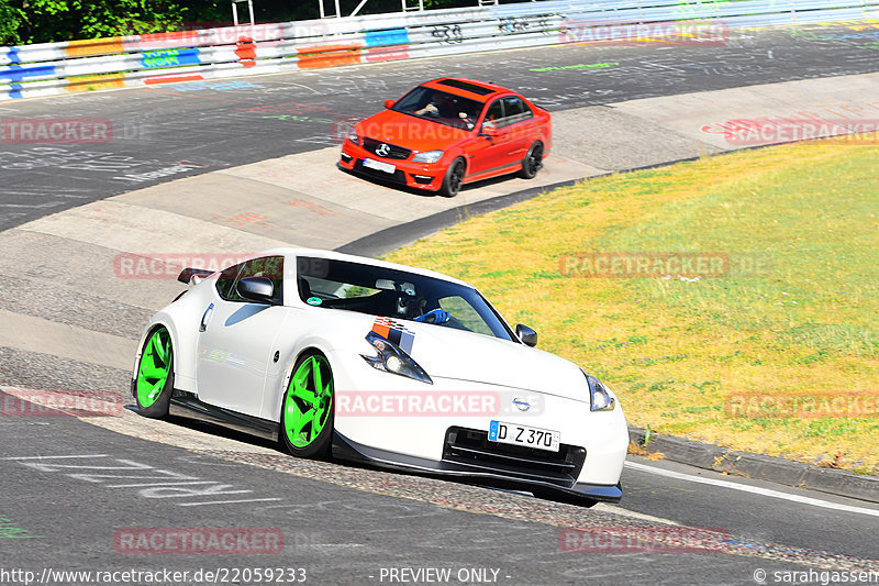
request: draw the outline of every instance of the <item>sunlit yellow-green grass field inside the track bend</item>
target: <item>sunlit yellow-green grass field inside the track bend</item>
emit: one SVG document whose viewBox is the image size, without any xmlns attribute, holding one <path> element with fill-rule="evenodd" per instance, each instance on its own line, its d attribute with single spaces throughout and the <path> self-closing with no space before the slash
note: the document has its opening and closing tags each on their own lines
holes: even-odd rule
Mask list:
<svg viewBox="0 0 879 586">
<path fill-rule="evenodd" d="M 879 474 L 877 169 L 875 146 L 702 158 L 559 189 L 388 258 L 479 287 L 605 380 L 632 424 Z M 590 278 L 596 257 L 567 258 L 596 252 L 725 269 Z"/>
</svg>

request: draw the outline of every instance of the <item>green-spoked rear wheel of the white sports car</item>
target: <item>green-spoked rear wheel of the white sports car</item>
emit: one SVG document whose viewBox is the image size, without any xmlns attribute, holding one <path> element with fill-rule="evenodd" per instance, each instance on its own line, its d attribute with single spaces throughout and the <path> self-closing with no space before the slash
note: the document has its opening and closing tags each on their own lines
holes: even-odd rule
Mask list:
<svg viewBox="0 0 879 586">
<path fill-rule="evenodd" d="M 173 350 L 165 328 L 156 328 L 146 338 L 134 380 L 134 400 L 143 416 L 158 419 L 168 414 L 174 394 Z"/>
</svg>

